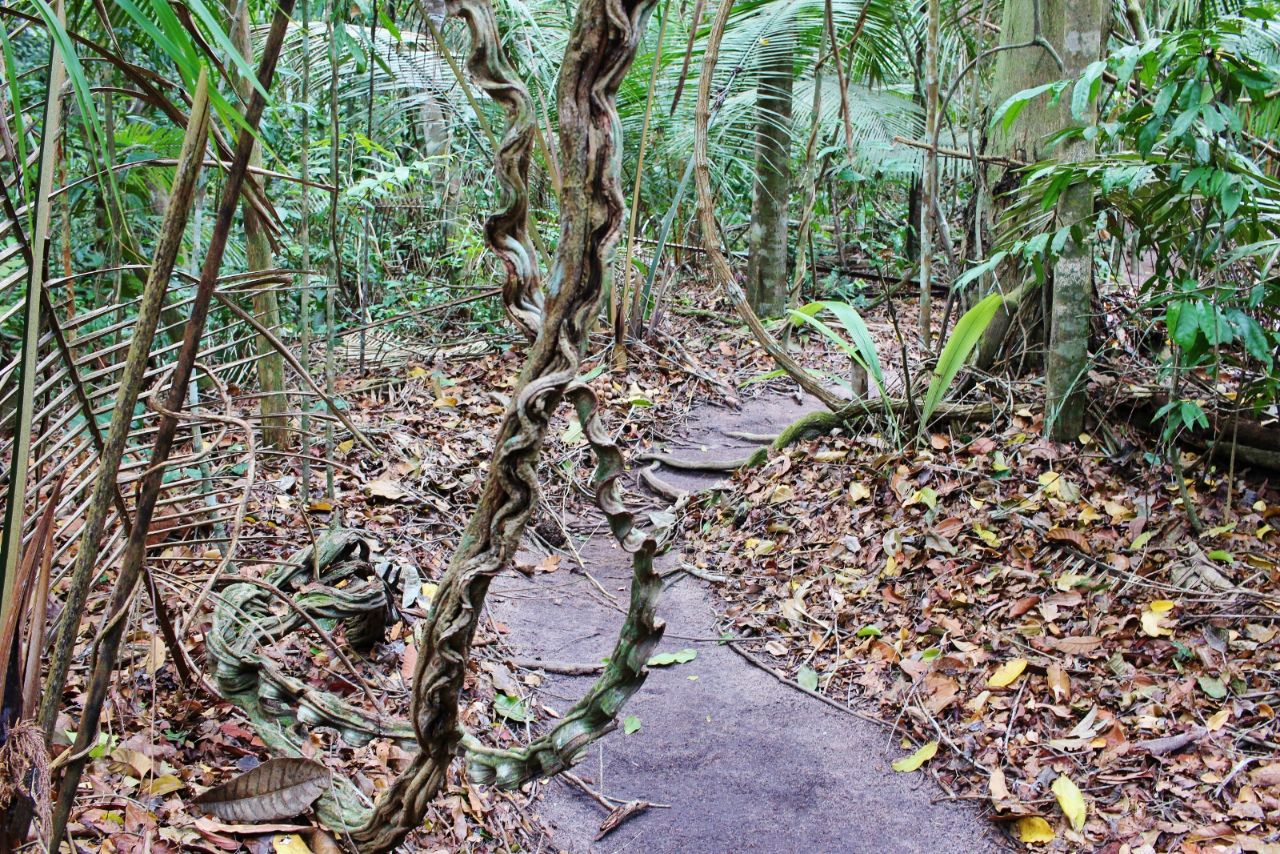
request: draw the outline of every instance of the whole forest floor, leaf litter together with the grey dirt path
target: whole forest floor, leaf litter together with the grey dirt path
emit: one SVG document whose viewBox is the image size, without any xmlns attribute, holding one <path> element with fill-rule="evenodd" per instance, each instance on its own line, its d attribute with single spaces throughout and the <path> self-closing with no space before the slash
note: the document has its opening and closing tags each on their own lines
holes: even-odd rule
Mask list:
<svg viewBox="0 0 1280 854">
<path fill-rule="evenodd" d="M 881 352 L 897 352 L 888 319 L 868 323 Z M 268 461 L 237 566 L 262 575 L 311 531 L 353 528 L 415 622 L 474 506 L 518 350 L 374 343 L 369 374 L 339 391 L 381 453 L 343 440 L 333 501 L 314 498 L 319 471 L 303 502 L 296 466 Z M 823 348 L 801 338 L 800 357 L 823 362 Z M 727 431 L 776 433 L 808 408 L 786 382 L 751 382 L 773 365 L 745 328 L 701 314 L 672 316 L 628 373 L 608 364 L 582 370 L 632 460 L 732 457 L 748 443 Z M 660 562 L 669 658 L 591 749 L 581 787 L 507 794 L 454 773 L 417 850 L 1275 850 L 1280 492 L 1188 456 L 1197 536 L 1169 461 L 1142 437 L 1055 446 L 1034 385 L 970 394 L 997 402 L 991 425 L 943 425 L 919 443 L 882 429 L 801 442 L 723 484 L 724 472 L 659 467 L 660 483 L 701 490 Z M 568 417 L 553 431 L 541 512 L 518 572 L 494 586 L 461 712 L 499 745 L 581 694 L 588 679 L 538 659 L 599 662 L 626 597 L 626 562 L 586 497 L 581 431 Z M 634 481 L 630 498 L 668 504 Z M 157 565 L 198 580 L 218 557 L 174 542 Z M 134 620 L 77 839 L 279 850 L 285 831 L 189 805 L 266 753 L 237 709 L 174 682 L 154 621 Z M 360 702 L 308 632 L 266 652 Z M 412 626 L 396 624 L 360 662 L 388 711 L 407 712 L 415 659 Z M 407 759 L 325 730 L 307 745 L 370 796 Z M 664 805 L 634 807 L 593 846 L 599 799 Z"/>
</svg>

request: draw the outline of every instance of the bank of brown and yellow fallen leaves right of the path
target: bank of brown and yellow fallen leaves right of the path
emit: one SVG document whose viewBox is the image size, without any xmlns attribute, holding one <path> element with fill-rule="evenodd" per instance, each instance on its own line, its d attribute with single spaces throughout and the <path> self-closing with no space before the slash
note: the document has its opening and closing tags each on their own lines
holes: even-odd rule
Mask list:
<svg viewBox="0 0 1280 854">
<path fill-rule="evenodd" d="M 686 517 L 686 560 L 745 648 L 1024 844 L 1276 850 L 1280 492 L 1184 456 L 1197 535 L 1167 461 L 1042 426 L 774 452 Z"/>
</svg>

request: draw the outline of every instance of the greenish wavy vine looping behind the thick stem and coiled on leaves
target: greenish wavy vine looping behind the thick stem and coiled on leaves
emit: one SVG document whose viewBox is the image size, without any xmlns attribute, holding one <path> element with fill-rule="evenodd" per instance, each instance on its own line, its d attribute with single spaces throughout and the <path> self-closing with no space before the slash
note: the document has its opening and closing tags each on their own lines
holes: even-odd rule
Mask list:
<svg viewBox="0 0 1280 854">
<path fill-rule="evenodd" d="M 655 615 L 662 577 L 653 568 L 653 558 L 666 530 L 639 526 L 622 501 L 617 480 L 625 471 L 623 458 L 599 419 L 595 393 L 575 383 L 564 396 L 576 408 L 596 457 L 593 478 L 596 506 L 614 538 L 632 554 L 631 603 L 604 672 L 548 732 L 527 745 L 498 749 L 458 730 L 467 776 L 476 784 L 515 789 L 571 767 L 589 744 L 614 729 L 623 703 L 644 685 L 645 663 L 662 639 L 664 626 Z M 367 548 L 355 531 L 330 531 L 315 547 L 302 549 L 276 568 L 265 585 L 232 584 L 219 599 L 207 639 L 214 681 L 223 697 L 250 716 L 276 753 L 298 754 L 296 723 L 332 727 L 357 746 L 374 737 L 401 743 L 415 737 L 407 722 L 370 714 L 316 690 L 257 652 L 262 643 L 283 638 L 307 618 L 342 621 L 352 645 L 371 648 L 383 636 L 387 599 L 380 583 L 371 577 L 366 558 Z M 306 584 L 314 567 L 323 570 L 319 583 Z M 335 586 L 340 581 L 348 581 L 347 586 Z M 271 595 L 302 585 L 306 586 L 289 598 L 288 612 L 271 609 Z M 340 776 L 334 780 L 335 791 L 317 805 L 321 819 L 347 831 L 361 827 L 369 821 L 369 810 L 358 803 L 349 782 Z"/>
</svg>

